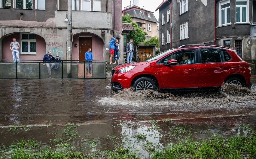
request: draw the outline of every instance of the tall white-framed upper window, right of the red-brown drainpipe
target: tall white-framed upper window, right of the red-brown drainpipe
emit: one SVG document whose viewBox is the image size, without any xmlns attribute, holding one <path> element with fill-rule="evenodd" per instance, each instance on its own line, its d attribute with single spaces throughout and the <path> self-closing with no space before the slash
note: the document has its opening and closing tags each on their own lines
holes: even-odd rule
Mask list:
<svg viewBox="0 0 256 159">
<path fill-rule="evenodd" d="M 219 3 L 219 25 L 230 24 L 230 1 Z"/>
</svg>

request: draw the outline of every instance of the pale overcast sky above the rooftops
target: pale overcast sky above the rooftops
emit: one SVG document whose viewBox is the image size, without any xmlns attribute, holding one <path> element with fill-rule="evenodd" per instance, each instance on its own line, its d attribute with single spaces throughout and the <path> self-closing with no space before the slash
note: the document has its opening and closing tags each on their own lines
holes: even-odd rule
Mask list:
<svg viewBox="0 0 256 159">
<path fill-rule="evenodd" d="M 145 10 L 154 12 L 154 16 L 158 19 L 158 10 L 155 12 L 157 7 L 161 4 L 163 0 L 136 0 L 138 1 L 138 7 L 142 8 L 144 6 Z M 133 0 L 131 0 L 131 4 L 133 5 Z M 130 5 L 130 0 L 123 0 L 123 9 Z"/>
</svg>

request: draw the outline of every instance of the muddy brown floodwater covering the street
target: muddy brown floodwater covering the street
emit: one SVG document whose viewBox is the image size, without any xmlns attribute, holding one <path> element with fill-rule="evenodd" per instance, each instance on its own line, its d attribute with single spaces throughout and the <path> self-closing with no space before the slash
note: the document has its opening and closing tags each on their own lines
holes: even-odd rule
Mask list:
<svg viewBox="0 0 256 159">
<path fill-rule="evenodd" d="M 255 83 L 255 82 L 254 82 Z M 51 145 L 63 137 L 72 123 L 77 149 L 114 149 L 116 144 L 139 149 L 147 158 L 147 145 L 163 148 L 181 139 L 175 127 L 184 127 L 193 138 L 209 133 L 227 136 L 256 129 L 256 86 L 240 88 L 225 84 L 211 92 L 161 94 L 154 91 L 114 93 L 110 79 L 0 80 L 0 145 L 30 138 Z M 13 126 L 28 129 L 10 131 Z M 146 139 L 138 139 L 138 135 Z M 89 146 L 88 146 L 89 145 Z M 146 148 L 145 148 L 146 147 Z"/>
</svg>

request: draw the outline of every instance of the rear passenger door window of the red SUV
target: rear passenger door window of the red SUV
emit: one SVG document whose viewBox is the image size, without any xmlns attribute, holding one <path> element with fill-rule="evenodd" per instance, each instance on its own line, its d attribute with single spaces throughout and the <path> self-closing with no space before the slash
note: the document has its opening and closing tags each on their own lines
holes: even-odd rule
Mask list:
<svg viewBox="0 0 256 159">
<path fill-rule="evenodd" d="M 222 51 L 200 50 L 202 63 L 223 62 Z"/>
</svg>

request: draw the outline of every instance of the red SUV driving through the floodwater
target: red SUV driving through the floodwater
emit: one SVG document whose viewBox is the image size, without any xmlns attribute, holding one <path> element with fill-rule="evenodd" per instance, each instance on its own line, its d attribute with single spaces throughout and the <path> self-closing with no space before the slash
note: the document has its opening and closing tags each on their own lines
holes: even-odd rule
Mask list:
<svg viewBox="0 0 256 159">
<path fill-rule="evenodd" d="M 226 47 L 183 45 L 143 62 L 113 68 L 111 89 L 179 91 L 218 88 L 223 82 L 251 88 L 249 64 Z"/>
</svg>

